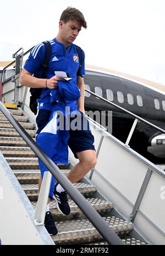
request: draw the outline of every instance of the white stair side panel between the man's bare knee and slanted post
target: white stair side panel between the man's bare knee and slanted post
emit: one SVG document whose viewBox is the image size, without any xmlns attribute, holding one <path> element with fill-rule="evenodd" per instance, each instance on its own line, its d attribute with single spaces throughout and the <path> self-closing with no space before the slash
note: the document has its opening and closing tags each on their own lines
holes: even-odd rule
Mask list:
<svg viewBox="0 0 165 256">
<path fill-rule="evenodd" d="M 106 136 L 103 138 L 95 168 L 125 198 L 135 204 L 148 169 L 144 163 L 130 152 L 123 150 L 111 140 L 111 137 Z M 101 186 L 101 184 L 98 185 Z M 101 187 L 100 189 L 104 190 Z M 106 193 L 108 194 L 108 191 Z M 110 196 L 111 194 L 109 194 Z"/>
</svg>

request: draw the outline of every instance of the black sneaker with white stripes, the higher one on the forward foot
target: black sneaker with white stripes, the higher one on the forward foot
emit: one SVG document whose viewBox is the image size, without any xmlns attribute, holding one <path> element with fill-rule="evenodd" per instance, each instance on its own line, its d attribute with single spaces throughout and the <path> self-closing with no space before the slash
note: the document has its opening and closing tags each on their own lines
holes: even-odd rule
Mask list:
<svg viewBox="0 0 165 256">
<path fill-rule="evenodd" d="M 55 185 L 54 188 L 54 199 L 56 199 L 57 201 L 57 209 L 59 210 L 59 212 L 61 212 L 63 215 L 68 215 L 70 214 L 70 207 L 68 204 L 68 198 L 67 198 L 67 192 L 57 192 L 56 188 L 57 188 L 58 183 Z"/>
</svg>

